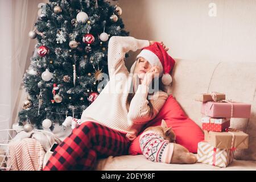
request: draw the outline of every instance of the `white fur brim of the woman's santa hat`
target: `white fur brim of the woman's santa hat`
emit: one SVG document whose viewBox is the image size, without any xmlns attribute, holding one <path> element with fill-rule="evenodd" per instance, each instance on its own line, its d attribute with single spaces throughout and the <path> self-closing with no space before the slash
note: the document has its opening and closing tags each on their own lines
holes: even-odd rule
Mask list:
<svg viewBox="0 0 256 182">
<path fill-rule="evenodd" d="M 143 57 L 144 59 L 146 59 L 148 61 L 148 63 L 151 64 L 152 67 L 159 66 L 159 68 L 160 68 L 159 77 L 161 77 L 163 75 L 163 65 L 160 62 L 158 56 L 155 55 L 155 53 L 153 53 L 152 51 L 150 51 L 148 49 L 143 49 L 137 56 L 137 59 L 138 59 L 138 57 Z"/>
</svg>

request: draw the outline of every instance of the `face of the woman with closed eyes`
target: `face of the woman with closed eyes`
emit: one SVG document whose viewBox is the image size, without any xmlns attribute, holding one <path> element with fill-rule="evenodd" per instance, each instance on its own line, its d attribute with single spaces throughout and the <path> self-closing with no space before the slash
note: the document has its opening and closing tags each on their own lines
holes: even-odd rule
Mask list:
<svg viewBox="0 0 256 182">
<path fill-rule="evenodd" d="M 152 65 L 146 59 L 139 57 L 134 68 L 134 74 L 137 74 L 140 79 L 143 79 L 151 67 Z"/>
</svg>

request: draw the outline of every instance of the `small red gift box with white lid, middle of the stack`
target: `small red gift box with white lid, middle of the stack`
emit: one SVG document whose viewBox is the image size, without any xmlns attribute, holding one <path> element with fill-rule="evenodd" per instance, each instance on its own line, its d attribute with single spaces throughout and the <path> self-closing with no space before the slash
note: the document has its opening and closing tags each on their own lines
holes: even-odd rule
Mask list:
<svg viewBox="0 0 256 182">
<path fill-rule="evenodd" d="M 210 118 L 201 119 L 202 129 L 207 131 L 224 131 L 230 126 L 230 118 Z"/>
</svg>

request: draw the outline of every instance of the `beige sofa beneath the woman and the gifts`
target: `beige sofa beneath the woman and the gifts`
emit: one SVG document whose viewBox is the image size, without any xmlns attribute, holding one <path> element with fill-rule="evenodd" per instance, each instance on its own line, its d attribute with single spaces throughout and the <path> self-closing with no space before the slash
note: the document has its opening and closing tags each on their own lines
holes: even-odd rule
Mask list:
<svg viewBox="0 0 256 182">
<path fill-rule="evenodd" d="M 194 100 L 196 94 L 216 91 L 226 93 L 227 99 L 250 103 L 250 119 L 231 119 L 231 127 L 250 135 L 249 149 L 237 150 L 236 160 L 227 168 L 201 163 L 154 163 L 143 155 L 126 155 L 98 160 L 97 170 L 256 170 L 256 63 L 176 59 L 172 77 L 168 93 L 199 126 L 202 115 L 200 102 Z"/>
</svg>

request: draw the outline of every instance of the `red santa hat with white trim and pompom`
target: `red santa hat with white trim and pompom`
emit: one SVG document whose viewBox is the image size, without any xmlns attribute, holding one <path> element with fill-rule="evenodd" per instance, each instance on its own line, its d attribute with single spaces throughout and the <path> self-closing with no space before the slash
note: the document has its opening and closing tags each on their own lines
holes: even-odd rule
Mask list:
<svg viewBox="0 0 256 182">
<path fill-rule="evenodd" d="M 162 82 L 164 85 L 170 85 L 172 82 L 172 77 L 170 72 L 174 68 L 175 60 L 172 59 L 170 55 L 164 50 L 163 46 L 155 42 L 151 46 L 145 47 L 139 53 L 138 57 L 143 57 L 146 59 L 152 66 L 158 65 L 160 68 L 159 77 L 162 77 Z M 136 60 L 137 60 L 136 59 Z M 135 63 L 131 66 L 131 73 L 134 73 Z"/>
</svg>

